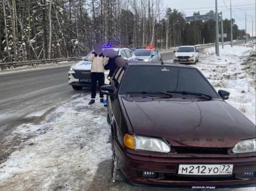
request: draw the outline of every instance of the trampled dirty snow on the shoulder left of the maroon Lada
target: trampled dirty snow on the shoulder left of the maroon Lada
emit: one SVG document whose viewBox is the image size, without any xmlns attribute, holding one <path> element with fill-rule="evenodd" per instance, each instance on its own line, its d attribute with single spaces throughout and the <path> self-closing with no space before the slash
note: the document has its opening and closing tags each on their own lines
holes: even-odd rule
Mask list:
<svg viewBox="0 0 256 191">
<path fill-rule="evenodd" d="M 19 137 L 21 146 L 0 165 L 0 190 L 82 190 L 90 185 L 98 164 L 112 153 L 106 108 L 88 106 L 89 100 L 73 97 L 40 124 L 23 124 L 9 136 Z"/>
</svg>

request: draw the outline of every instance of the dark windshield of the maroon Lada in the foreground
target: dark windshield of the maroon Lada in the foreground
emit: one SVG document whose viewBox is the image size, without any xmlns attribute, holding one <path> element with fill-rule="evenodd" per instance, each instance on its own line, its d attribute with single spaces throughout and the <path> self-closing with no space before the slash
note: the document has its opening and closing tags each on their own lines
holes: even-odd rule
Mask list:
<svg viewBox="0 0 256 191">
<path fill-rule="evenodd" d="M 185 91 L 219 98 L 197 69 L 172 66 L 130 66 L 122 80 L 119 93 L 143 91 Z M 171 94 L 175 95 L 175 93 Z"/>
</svg>

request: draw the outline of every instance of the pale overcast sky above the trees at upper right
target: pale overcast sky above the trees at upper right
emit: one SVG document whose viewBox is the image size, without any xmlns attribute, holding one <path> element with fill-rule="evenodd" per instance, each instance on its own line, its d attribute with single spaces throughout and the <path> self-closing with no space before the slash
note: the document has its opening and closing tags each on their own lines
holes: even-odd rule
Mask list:
<svg viewBox="0 0 256 191">
<path fill-rule="evenodd" d="M 228 10 L 224 4 L 230 9 L 230 0 L 218 0 L 218 12 L 223 12 L 223 19 L 230 19 L 230 10 Z M 238 25 L 239 29 L 245 29 L 245 13 L 253 17 L 253 35 L 256 36 L 256 15 L 255 15 L 255 0 L 231 0 L 232 3 L 232 18 L 235 19 L 235 24 Z M 196 11 L 200 11 L 200 14 L 206 14 L 210 10 L 215 11 L 215 0 L 163 0 L 163 4 L 167 5 L 168 8 L 177 9 L 178 11 L 184 12 L 186 16 L 192 16 Z M 163 6 L 166 7 L 166 6 Z M 247 16 L 247 33 L 252 35 L 252 17 Z M 224 31 L 225 32 L 225 31 Z"/>
</svg>

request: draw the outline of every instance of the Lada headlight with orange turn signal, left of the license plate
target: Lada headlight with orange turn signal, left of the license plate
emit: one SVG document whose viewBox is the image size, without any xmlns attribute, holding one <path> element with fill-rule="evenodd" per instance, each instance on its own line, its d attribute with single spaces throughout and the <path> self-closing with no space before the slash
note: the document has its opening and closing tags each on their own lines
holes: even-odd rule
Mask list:
<svg viewBox="0 0 256 191">
<path fill-rule="evenodd" d="M 125 146 L 132 150 L 145 150 L 154 152 L 168 153 L 171 151 L 166 141 L 160 138 L 151 138 L 143 136 L 132 136 L 126 134 L 124 137 Z"/>
</svg>

